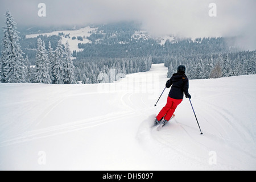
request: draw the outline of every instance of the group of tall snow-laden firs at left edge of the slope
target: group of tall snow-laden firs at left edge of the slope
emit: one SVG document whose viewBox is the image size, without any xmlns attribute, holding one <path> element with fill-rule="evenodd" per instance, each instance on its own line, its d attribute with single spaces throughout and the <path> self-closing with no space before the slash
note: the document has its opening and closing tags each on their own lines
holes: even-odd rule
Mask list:
<svg viewBox="0 0 256 182">
<path fill-rule="evenodd" d="M 1 56 L 1 82 L 37 82 L 45 84 L 74 84 L 75 67 L 71 59 L 68 42 L 63 46 L 59 40 L 55 51 L 48 43 L 48 51 L 42 39 L 38 38 L 35 67 L 23 57 L 19 44 L 19 32 L 9 11 L 6 12 L 6 27 L 3 28 Z"/>
</svg>

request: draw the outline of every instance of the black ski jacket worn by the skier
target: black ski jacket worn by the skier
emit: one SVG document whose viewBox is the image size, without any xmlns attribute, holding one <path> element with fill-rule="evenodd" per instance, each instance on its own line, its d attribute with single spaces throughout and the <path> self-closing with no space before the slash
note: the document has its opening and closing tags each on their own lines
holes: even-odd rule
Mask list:
<svg viewBox="0 0 256 182">
<path fill-rule="evenodd" d="M 172 86 L 169 97 L 174 99 L 183 99 L 183 92 L 188 97 L 188 77 L 183 73 L 174 73 L 170 80 L 166 82 L 166 88 Z"/>
</svg>

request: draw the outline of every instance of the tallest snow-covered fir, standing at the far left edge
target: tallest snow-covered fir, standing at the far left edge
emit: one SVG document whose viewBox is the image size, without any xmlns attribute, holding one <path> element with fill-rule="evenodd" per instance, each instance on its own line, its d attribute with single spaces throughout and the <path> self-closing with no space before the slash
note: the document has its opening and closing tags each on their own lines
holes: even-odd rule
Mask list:
<svg viewBox="0 0 256 182">
<path fill-rule="evenodd" d="M 19 45 L 19 32 L 9 11 L 6 12 L 6 27 L 3 28 L 3 48 L 1 58 L 2 82 L 26 82 L 26 66 L 23 51 Z"/>
</svg>

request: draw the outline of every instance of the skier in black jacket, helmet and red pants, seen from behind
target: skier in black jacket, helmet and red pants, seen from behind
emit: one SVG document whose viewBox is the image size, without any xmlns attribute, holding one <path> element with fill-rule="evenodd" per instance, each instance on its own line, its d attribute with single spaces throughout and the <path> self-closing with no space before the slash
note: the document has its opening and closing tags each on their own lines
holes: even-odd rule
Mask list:
<svg viewBox="0 0 256 182">
<path fill-rule="evenodd" d="M 185 75 L 185 70 L 184 65 L 179 65 L 177 73 L 174 73 L 170 80 L 166 82 L 166 88 L 172 87 L 166 106 L 156 116 L 155 125 L 158 125 L 162 119 L 164 119 L 162 123 L 165 125 L 171 119 L 176 107 L 183 101 L 183 92 L 186 98 L 191 98 L 191 95 L 188 93 L 188 77 Z"/>
</svg>

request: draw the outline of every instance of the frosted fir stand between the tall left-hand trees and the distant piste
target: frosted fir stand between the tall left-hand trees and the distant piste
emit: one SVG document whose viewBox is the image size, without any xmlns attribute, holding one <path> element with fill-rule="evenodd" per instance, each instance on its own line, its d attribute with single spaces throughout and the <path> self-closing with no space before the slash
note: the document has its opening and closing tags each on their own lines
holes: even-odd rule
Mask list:
<svg viewBox="0 0 256 182">
<path fill-rule="evenodd" d="M 152 57 L 86 57 L 76 60 L 74 65 L 76 80 L 83 84 L 97 84 L 113 82 L 130 73 L 147 72 L 151 68 Z"/>
</svg>

